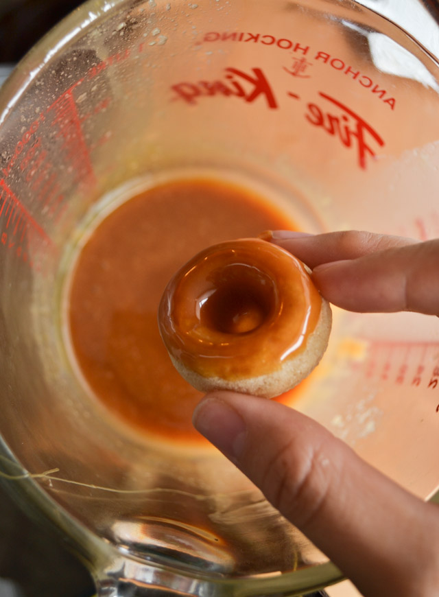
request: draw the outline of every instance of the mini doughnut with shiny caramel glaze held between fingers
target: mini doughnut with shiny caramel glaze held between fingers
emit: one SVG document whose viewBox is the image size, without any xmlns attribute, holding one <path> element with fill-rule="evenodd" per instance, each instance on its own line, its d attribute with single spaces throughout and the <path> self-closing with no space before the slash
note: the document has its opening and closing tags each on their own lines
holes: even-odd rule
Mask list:
<svg viewBox="0 0 439 597">
<path fill-rule="evenodd" d="M 194 388 L 272 398 L 322 358 L 331 308 L 291 253 L 239 239 L 206 248 L 176 273 L 158 325 L 171 361 Z"/>
</svg>

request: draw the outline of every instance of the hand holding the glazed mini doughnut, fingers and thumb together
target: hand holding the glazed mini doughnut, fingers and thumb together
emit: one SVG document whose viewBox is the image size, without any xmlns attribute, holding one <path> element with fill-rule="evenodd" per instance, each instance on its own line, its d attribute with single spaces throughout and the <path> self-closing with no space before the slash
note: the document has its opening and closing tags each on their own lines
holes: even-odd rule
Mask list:
<svg viewBox="0 0 439 597">
<path fill-rule="evenodd" d="M 274 233 L 313 269 L 331 303 L 439 315 L 439 239 Z M 439 507 L 365 463 L 304 414 L 231 392 L 206 396 L 194 425 L 340 567 L 365 597 L 439 594 Z"/>
</svg>

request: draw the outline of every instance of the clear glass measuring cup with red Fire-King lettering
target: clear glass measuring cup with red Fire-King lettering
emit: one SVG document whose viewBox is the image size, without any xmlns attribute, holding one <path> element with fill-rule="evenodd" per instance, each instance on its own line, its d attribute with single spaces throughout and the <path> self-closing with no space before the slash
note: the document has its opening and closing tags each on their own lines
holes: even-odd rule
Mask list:
<svg viewBox="0 0 439 597">
<path fill-rule="evenodd" d="M 215 452 L 139 438 L 84 391 L 62 329 L 75 247 L 136 189 L 200 172 L 307 231 L 437 236 L 438 102 L 427 51 L 324 0 L 89 2 L 1 90 L 1 476 L 100 593 L 295 595 L 340 572 Z M 438 338 L 423 316 L 336 312 L 295 402 L 423 498 Z"/>
</svg>

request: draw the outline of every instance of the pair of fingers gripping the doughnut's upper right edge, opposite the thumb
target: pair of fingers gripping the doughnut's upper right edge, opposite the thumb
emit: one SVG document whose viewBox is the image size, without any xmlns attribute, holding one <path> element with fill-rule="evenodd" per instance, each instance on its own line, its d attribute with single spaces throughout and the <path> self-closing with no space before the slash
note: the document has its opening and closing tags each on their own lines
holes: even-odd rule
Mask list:
<svg viewBox="0 0 439 597">
<path fill-rule="evenodd" d="M 323 296 L 355 312 L 439 315 L 439 239 L 346 231 L 304 235 L 275 231 L 272 242 L 313 267 Z"/>
</svg>

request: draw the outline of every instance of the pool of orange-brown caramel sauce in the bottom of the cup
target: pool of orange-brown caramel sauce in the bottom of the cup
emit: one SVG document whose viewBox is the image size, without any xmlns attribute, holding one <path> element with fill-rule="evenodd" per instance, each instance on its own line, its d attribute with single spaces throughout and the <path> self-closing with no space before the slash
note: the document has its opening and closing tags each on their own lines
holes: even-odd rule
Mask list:
<svg viewBox="0 0 439 597">
<path fill-rule="evenodd" d="M 89 388 L 119 421 L 148 435 L 204 441 L 191 424 L 202 395 L 169 360 L 158 304 L 171 277 L 200 250 L 265 229 L 296 226 L 254 191 L 201 178 L 148 189 L 97 226 L 75 263 L 69 333 Z M 246 333 L 265 317 L 264 304 L 243 296 L 224 325 Z M 209 309 L 203 316 L 215 317 Z"/>
</svg>

